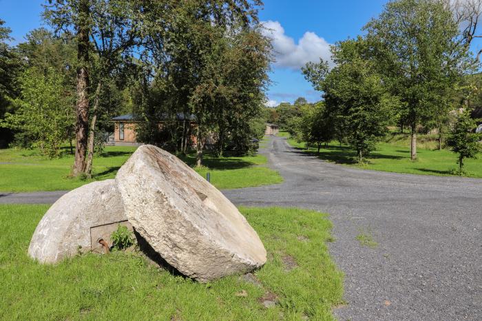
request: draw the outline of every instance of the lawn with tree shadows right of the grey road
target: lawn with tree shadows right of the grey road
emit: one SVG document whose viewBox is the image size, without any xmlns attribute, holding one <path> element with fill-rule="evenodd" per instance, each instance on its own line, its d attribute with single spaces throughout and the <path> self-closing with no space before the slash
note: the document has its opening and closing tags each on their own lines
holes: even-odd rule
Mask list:
<svg viewBox="0 0 482 321">
<path fill-rule="evenodd" d="M 293 138 L 289 138 L 288 143 L 309 154 L 317 154 L 317 149 L 314 147 L 306 149 L 305 143 L 298 143 Z M 450 152 L 448 149 L 433 150 L 421 148 L 429 145 L 430 143 L 422 141 L 417 146 L 417 161 L 410 161 L 410 145 L 408 145 L 406 139 L 378 143 L 377 150 L 370 154 L 367 158 L 368 163 L 364 165 L 357 164 L 355 161 L 356 152 L 350 149 L 350 147 L 339 146 L 335 142 L 328 145 L 328 149 L 320 149 L 319 158 L 337 164 L 384 172 L 437 176 L 454 175 L 454 170 L 459 168 L 457 154 Z M 476 159 L 465 159 L 464 170 L 469 177 L 482 178 L 482 154 L 479 154 L 479 158 Z"/>
</svg>

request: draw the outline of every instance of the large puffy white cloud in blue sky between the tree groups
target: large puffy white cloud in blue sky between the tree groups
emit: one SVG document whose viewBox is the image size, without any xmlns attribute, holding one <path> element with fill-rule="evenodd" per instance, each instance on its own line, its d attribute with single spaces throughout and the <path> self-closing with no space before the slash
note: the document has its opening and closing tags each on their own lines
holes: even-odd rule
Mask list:
<svg viewBox="0 0 482 321">
<path fill-rule="evenodd" d="M 275 65 L 282 68 L 300 70 L 308 61 L 318 62 L 321 57 L 331 62 L 330 44 L 315 32 L 305 32 L 303 37 L 295 40 L 284 34 L 284 28 L 278 21 L 263 21 L 264 35 L 271 38 Z"/>
</svg>

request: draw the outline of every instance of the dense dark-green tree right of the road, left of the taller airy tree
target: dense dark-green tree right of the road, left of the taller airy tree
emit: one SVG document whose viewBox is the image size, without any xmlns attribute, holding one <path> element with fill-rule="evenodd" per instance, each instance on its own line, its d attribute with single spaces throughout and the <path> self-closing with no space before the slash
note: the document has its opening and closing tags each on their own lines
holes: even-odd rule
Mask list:
<svg viewBox="0 0 482 321">
<path fill-rule="evenodd" d="M 304 73 L 307 79 L 320 81 L 315 87 L 324 92 L 327 114 L 342 123 L 344 136 L 362 162 L 386 133 L 396 99 L 386 91 L 375 62 L 366 58 L 364 39 L 342 41 L 331 50 L 335 68 L 328 71 L 322 63 L 312 70 L 309 64 Z"/>
</svg>

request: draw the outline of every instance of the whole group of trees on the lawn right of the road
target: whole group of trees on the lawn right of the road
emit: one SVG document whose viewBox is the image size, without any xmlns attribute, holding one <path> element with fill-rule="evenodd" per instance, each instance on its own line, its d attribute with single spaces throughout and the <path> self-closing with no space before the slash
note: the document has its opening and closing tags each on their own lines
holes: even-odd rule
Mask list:
<svg viewBox="0 0 482 321">
<path fill-rule="evenodd" d="M 294 108 L 300 111 L 294 121 L 298 125 L 290 127 L 318 148 L 333 139 L 348 143 L 360 162 L 390 125 L 410 129 L 412 160 L 417 158 L 418 132 L 437 130 L 440 148 L 448 132 L 446 144 L 459 153 L 462 169 L 463 158 L 476 155 L 480 139 L 470 102 L 480 101 L 476 97 L 481 92 L 473 82 L 476 77 L 468 76 L 479 70 L 479 55 L 474 58 L 470 43 L 480 2 L 463 2 L 479 3 L 478 11 L 454 8 L 463 6 L 459 1 L 388 2 L 366 24 L 364 36 L 332 46 L 333 68 L 320 61 L 302 69 L 324 99 Z"/>
</svg>

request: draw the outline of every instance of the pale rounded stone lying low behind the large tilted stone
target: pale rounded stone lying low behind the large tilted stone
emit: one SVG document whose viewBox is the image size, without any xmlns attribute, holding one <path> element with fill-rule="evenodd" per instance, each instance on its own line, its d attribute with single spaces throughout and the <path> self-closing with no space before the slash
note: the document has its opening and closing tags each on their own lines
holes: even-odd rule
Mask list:
<svg viewBox="0 0 482 321">
<path fill-rule="evenodd" d="M 98 247 L 91 229 L 127 220 L 114 180 L 94 182 L 65 194 L 37 225 L 28 254 L 42 263 L 54 263 Z M 123 222 L 126 224 L 126 222 Z M 91 247 L 92 245 L 92 247 Z"/>
</svg>

